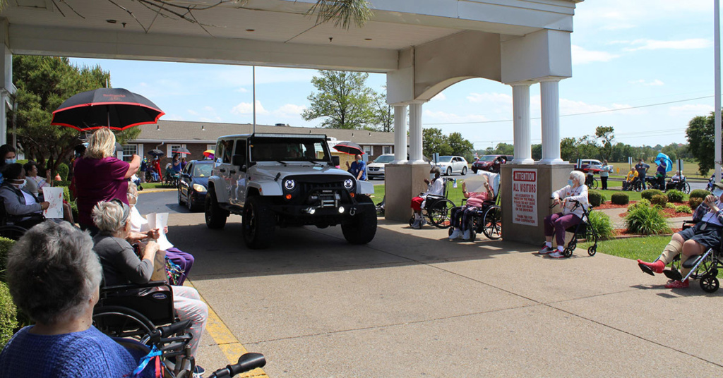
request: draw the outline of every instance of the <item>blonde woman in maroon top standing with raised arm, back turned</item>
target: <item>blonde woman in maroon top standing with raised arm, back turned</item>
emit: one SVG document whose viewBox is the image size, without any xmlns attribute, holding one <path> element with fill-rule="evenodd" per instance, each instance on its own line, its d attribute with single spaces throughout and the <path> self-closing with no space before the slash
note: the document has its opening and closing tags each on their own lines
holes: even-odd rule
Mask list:
<svg viewBox="0 0 723 378">
<path fill-rule="evenodd" d="M 91 235 L 98 232 L 91 212 L 100 201 L 119 199 L 128 205 L 128 179 L 140 168 L 140 157 L 130 163 L 114 157 L 116 135 L 110 129 L 98 129 L 88 139 L 85 155 L 74 163 L 73 182 L 78 205 L 78 224 Z"/>
</svg>

